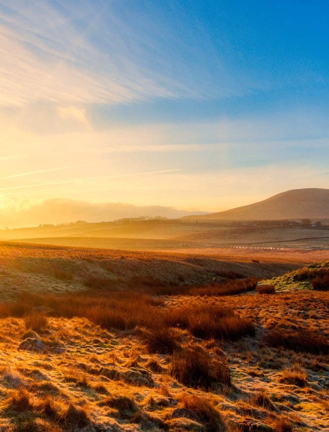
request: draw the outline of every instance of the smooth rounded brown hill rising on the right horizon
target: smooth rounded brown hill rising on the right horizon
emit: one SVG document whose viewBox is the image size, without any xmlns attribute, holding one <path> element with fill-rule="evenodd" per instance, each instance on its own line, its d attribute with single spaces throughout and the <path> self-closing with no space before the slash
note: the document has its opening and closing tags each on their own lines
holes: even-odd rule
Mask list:
<svg viewBox="0 0 329 432">
<path fill-rule="evenodd" d="M 281 192 L 263 201 L 203 216 L 195 220 L 329 219 L 329 189 L 307 188 Z M 183 219 L 187 219 L 184 217 Z"/>
</svg>

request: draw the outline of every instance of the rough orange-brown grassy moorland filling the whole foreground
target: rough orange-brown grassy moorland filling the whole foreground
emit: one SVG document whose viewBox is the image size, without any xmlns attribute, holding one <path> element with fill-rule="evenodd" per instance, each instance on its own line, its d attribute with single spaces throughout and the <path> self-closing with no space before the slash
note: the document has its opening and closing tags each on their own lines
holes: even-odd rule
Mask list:
<svg viewBox="0 0 329 432">
<path fill-rule="evenodd" d="M 329 431 L 326 250 L 195 246 L 2 242 L 0 431 Z"/>
</svg>

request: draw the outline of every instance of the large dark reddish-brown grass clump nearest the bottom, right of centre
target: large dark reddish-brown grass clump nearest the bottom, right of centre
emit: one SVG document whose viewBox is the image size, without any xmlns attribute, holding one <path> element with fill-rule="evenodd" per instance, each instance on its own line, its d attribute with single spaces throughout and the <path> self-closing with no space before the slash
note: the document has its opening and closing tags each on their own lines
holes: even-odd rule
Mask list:
<svg viewBox="0 0 329 432">
<path fill-rule="evenodd" d="M 179 382 L 195 389 L 208 390 L 218 384 L 231 385 L 230 369 L 227 364 L 211 358 L 199 347 L 176 351 L 168 371 Z"/>
</svg>

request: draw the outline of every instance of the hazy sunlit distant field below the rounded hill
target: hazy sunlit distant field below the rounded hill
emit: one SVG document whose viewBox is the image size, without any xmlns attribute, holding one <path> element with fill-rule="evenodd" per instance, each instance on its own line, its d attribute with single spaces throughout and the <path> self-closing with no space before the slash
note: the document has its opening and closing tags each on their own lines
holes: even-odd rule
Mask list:
<svg viewBox="0 0 329 432">
<path fill-rule="evenodd" d="M 105 223 L 104 223 L 105 224 Z M 104 225 L 100 224 L 100 225 Z M 329 250 L 329 229 L 301 226 L 231 226 L 215 223 L 146 221 L 107 228 L 99 224 L 8 230 L 3 240 L 122 250 L 208 253 L 223 248 Z M 257 252 L 255 252 L 257 253 Z"/>
</svg>

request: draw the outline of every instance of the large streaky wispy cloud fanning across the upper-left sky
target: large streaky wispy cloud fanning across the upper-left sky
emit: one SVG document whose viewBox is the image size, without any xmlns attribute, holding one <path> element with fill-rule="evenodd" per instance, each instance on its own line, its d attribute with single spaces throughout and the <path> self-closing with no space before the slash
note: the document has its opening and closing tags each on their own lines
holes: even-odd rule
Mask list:
<svg viewBox="0 0 329 432">
<path fill-rule="evenodd" d="M 183 61 L 181 53 L 190 50 L 187 38 L 179 36 L 170 15 L 162 19 L 160 10 L 147 11 L 150 5 L 138 22 L 135 14 L 141 11 L 133 4 L 115 8 L 112 2 L 85 1 L 58 7 L 38 1 L 27 8 L 23 1 L 6 3 L 0 1 L 2 105 L 113 104 L 249 91 L 225 69 L 205 34 L 194 34 L 188 24 L 194 51 L 188 63 Z M 206 61 L 204 52 L 211 50 Z M 191 74 L 194 62 L 198 68 Z"/>
</svg>

